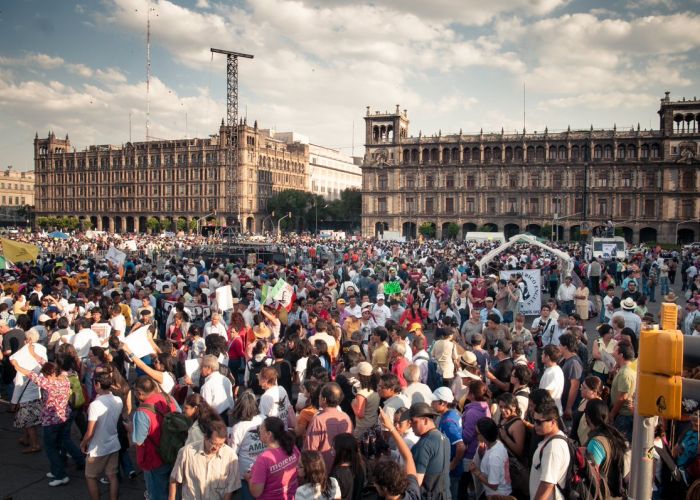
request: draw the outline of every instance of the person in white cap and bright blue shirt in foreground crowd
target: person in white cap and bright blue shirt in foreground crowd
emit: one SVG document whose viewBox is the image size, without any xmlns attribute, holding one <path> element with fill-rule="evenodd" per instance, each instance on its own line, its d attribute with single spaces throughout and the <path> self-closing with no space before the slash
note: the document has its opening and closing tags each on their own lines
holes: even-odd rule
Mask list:
<svg viewBox="0 0 700 500">
<path fill-rule="evenodd" d="M 452 498 L 459 498 L 459 480 L 464 473 L 462 458 L 466 446 L 462 440 L 461 415 L 455 410 L 455 397 L 448 387 L 438 387 L 433 391 L 431 406 L 439 415 L 438 430 L 450 442 L 450 492 Z"/>
</svg>

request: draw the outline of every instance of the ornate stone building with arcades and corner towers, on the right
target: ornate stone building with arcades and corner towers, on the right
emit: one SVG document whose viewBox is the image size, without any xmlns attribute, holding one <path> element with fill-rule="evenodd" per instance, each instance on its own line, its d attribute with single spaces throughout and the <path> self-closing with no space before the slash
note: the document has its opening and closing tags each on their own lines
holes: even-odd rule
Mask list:
<svg viewBox="0 0 700 500">
<path fill-rule="evenodd" d="M 661 99 L 660 129 L 410 137 L 406 110 L 365 116 L 362 233 L 424 223 L 577 239 L 608 220 L 630 242 L 700 235 L 700 100 Z"/>
</svg>

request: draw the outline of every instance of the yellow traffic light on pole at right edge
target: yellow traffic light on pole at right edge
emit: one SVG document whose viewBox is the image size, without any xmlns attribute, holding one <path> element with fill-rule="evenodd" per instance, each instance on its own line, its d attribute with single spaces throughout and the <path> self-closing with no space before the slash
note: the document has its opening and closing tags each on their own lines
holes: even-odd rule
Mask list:
<svg viewBox="0 0 700 500">
<path fill-rule="evenodd" d="M 661 328 L 642 330 L 639 339 L 637 413 L 678 419 L 683 399 L 684 337 L 678 326 L 678 306 L 661 304 Z"/>
</svg>

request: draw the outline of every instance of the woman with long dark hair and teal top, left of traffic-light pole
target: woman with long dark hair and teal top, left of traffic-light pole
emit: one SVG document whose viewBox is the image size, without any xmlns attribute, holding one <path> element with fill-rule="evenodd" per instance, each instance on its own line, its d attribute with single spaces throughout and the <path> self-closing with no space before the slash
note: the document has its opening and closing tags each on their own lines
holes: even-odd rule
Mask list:
<svg viewBox="0 0 700 500">
<path fill-rule="evenodd" d="M 625 493 L 624 478 L 627 475 L 625 437 L 608 423 L 608 406 L 600 399 L 586 405 L 586 421 L 590 427 L 586 452 L 600 468 L 600 475 L 607 479 L 610 495 L 622 497 Z"/>
</svg>

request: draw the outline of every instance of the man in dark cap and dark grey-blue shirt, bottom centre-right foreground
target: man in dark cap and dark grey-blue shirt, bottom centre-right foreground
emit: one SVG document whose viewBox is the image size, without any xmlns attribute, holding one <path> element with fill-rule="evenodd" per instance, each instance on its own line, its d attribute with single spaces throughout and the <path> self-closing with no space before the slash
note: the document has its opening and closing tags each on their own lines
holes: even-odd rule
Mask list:
<svg viewBox="0 0 700 500">
<path fill-rule="evenodd" d="M 421 498 L 451 498 L 450 442 L 435 426 L 437 412 L 428 403 L 414 403 L 408 411 L 418 442 L 411 448 Z"/>
</svg>

